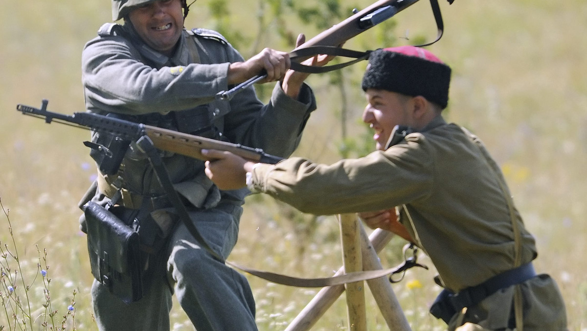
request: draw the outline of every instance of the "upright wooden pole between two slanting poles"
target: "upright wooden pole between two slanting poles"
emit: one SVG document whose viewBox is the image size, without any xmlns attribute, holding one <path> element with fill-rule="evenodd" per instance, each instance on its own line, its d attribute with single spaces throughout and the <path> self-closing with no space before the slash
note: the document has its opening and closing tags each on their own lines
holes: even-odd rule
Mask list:
<svg viewBox="0 0 587 331">
<path fill-rule="evenodd" d="M 361 253 L 360 223 L 355 214 L 341 214 L 340 240 L 342 243 L 342 261 L 345 272 L 363 270 Z M 346 308 L 350 331 L 367 331 L 367 311 L 365 304 L 365 282 L 345 284 Z"/>
</svg>

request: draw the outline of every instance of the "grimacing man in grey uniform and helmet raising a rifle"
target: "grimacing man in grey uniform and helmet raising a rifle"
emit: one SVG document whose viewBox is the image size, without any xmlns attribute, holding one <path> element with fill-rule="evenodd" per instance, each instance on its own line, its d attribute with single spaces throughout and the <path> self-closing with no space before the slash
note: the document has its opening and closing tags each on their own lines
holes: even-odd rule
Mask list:
<svg viewBox="0 0 587 331">
<path fill-rule="evenodd" d="M 88 111 L 262 148 L 272 155 L 294 151 L 316 105 L 303 82 L 308 75 L 289 70 L 286 52 L 264 49 L 245 61 L 217 32 L 184 29 L 189 9 L 185 0 L 112 0 L 112 9 L 113 20 L 124 19 L 124 24 L 104 24 L 82 53 Z M 323 65 L 329 59 L 317 56 L 305 64 Z M 262 71 L 265 82 L 278 81 L 268 104 L 259 101 L 252 87 L 230 101 L 215 98 Z M 109 139 L 116 142 L 96 132 L 92 139 L 102 152 L 110 151 L 105 145 Z M 219 190 L 205 176 L 203 161 L 169 152 L 160 156 L 191 222 L 227 258 L 237 242 L 241 206 L 249 191 Z M 90 200 L 123 207 L 126 213 L 140 210 L 156 224 L 151 226 L 153 245 L 144 249 L 150 255 L 139 295 L 121 296 L 113 290 L 120 283 L 109 273 L 109 263 L 119 256 L 102 256 L 93 265 L 93 308 L 100 330 L 169 330 L 173 293 L 199 331 L 257 329 L 247 279 L 215 259 L 178 220 L 136 145 L 131 143 L 119 168 L 99 172 L 96 187 L 80 206 Z M 141 230 L 149 228 L 137 219 Z M 86 217 L 80 222 L 86 230 Z M 110 240 L 94 242 L 107 245 Z"/>
</svg>

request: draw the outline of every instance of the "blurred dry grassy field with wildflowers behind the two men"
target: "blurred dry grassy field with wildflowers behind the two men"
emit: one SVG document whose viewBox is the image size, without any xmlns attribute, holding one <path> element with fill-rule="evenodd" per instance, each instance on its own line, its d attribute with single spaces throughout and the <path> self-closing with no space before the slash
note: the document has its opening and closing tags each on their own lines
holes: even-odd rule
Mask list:
<svg viewBox="0 0 587 331">
<path fill-rule="evenodd" d="M 187 26 L 215 28 L 217 22 L 206 19 L 208 2 L 194 4 Z M 229 4 L 231 16 L 227 19 L 235 29 L 255 36 L 257 29 L 248 31 L 244 27 L 251 28 L 248 18 L 256 18 L 263 9 L 259 2 Z M 367 4 L 368 1 L 357 0 L 348 6 L 363 8 Z M 11 253 L 18 249 L 18 263 L 27 284 L 36 277 L 28 291 L 35 330 L 43 329 L 42 316 L 47 310 L 43 304 L 49 285 L 42 280 L 49 278 L 51 308 L 58 310 L 55 320 L 60 322 L 63 315 L 73 312 L 75 317 L 69 316 L 66 323 L 68 329 L 75 325 L 78 330 L 94 330 L 89 298 L 92 275 L 86 238 L 77 223 L 77 201 L 95 172 L 81 143 L 88 133 L 25 118 L 15 111 L 15 106 L 38 106 L 46 98 L 51 111 L 83 111 L 80 52 L 99 26 L 109 21 L 110 8 L 106 1 L 72 0 L 4 1 L 2 7 L 0 199 L 8 216 L 0 213 L 1 247 Z M 535 266 L 539 272 L 551 274 L 561 287 L 569 329 L 585 331 L 587 265 L 581 254 L 587 249 L 587 3 L 457 0 L 451 6 L 442 1 L 441 9 L 445 35 L 429 49 L 453 68 L 446 118 L 480 136 L 502 166 L 515 203 L 537 239 L 539 256 Z M 296 23 L 294 18 L 291 22 L 288 27 L 292 32 L 309 37 L 318 32 Z M 375 49 L 436 35 L 426 1 L 406 9 L 394 22 L 397 25 L 393 35 L 377 27 L 346 46 Z M 271 34 L 278 23 L 265 23 L 268 32 L 262 36 L 261 46 L 288 50 L 288 45 Z M 382 44 L 382 40 L 392 44 Z M 246 47 L 241 50 L 245 56 L 254 52 Z M 343 71 L 343 95 L 329 84 L 331 76 L 310 79 L 319 109 L 312 115 L 296 155 L 319 162 L 340 158 L 341 109 L 349 112 L 344 130 L 347 141 L 365 141 L 366 128 L 360 123 L 364 98 L 358 85 L 364 66 L 362 63 Z M 8 220 L 14 236 L 8 230 Z M 333 216 L 316 218 L 270 199 L 251 196 L 241 225 L 239 242 L 231 256 L 234 262 L 301 277 L 332 275 L 342 263 L 338 223 Z M 392 240 L 381 255 L 384 266 L 400 262 L 402 245 L 400 239 Z M 46 262 L 43 249 L 47 252 Z M 4 254 L 6 257 L 0 256 L 0 261 L 4 268 L 5 263 L 10 263 L 8 274 L 12 275 L 18 269 L 16 261 Z M 41 270 L 46 270 L 45 278 L 39 276 Z M 414 330 L 442 330 L 441 324 L 427 314 L 438 292 L 432 282 L 434 275 L 434 270 L 413 270 L 403 282 L 393 285 Z M 0 280 L 0 297 L 11 294 L 7 279 L 2 276 Z M 317 292 L 249 279 L 261 330 L 285 329 Z M 13 288 L 14 293 L 23 287 Z M 74 290 L 75 310 L 70 311 Z M 373 300 L 367 298 L 369 330 L 387 329 Z M 343 299 L 342 296 L 326 312 L 313 330 L 348 329 Z M 6 307 L 0 307 L 0 325 L 6 325 L 7 316 L 12 316 L 10 306 Z M 178 305 L 172 317 L 175 330 L 193 329 Z"/>
</svg>

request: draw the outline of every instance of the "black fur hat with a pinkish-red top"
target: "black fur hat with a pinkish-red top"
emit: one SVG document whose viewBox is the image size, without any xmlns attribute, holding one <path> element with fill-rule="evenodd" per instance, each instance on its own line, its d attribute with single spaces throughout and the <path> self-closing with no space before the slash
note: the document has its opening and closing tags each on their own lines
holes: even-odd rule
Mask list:
<svg viewBox="0 0 587 331">
<path fill-rule="evenodd" d="M 378 49 L 369 56 L 362 88 L 421 95 L 443 109 L 448 103 L 449 66 L 426 49 L 399 46 Z"/>
</svg>

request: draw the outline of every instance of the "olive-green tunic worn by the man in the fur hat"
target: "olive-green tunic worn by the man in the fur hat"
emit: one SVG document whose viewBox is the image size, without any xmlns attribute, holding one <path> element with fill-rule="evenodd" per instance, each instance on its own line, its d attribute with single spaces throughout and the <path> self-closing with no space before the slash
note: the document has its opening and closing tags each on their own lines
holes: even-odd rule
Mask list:
<svg viewBox="0 0 587 331">
<path fill-rule="evenodd" d="M 251 188 L 319 215 L 400 206 L 400 222 L 430 256 L 444 286 L 458 292 L 514 268 L 512 218 L 504 195 L 510 192 L 503 192 L 502 180 L 478 138 L 438 116 L 403 143 L 363 158 L 333 165 L 302 158 L 258 165 Z M 521 229 L 521 263 L 531 262 L 537 256 L 534 238 L 515 208 L 514 219 Z M 541 320 L 541 328 L 528 322 L 528 330 L 564 330 L 564 304 L 552 279 L 543 275 L 524 285 L 525 297 L 532 300 L 526 315 Z M 511 297 L 485 308 L 491 329 L 507 325 L 507 302 Z M 545 323 L 554 326 L 544 329 Z"/>
</svg>

